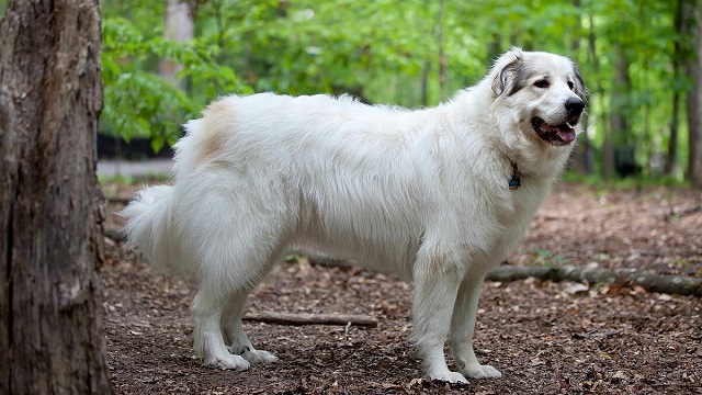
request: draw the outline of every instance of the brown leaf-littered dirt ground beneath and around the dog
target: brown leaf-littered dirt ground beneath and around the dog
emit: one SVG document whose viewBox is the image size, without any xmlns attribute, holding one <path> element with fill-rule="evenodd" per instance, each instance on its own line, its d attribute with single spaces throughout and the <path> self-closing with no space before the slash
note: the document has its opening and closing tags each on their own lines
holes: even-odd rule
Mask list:
<svg viewBox="0 0 702 395">
<path fill-rule="evenodd" d="M 105 185 L 107 196 L 134 188 Z M 536 214 L 510 264 L 641 268 L 702 278 L 700 191 L 598 190 L 562 184 Z M 110 204 L 109 211 L 120 204 Z M 120 226 L 110 216 L 109 227 Z M 363 314 L 377 327 L 247 321 L 280 361 L 247 372 L 193 357 L 194 287 L 106 240 L 105 329 L 118 393 L 201 394 L 702 394 L 702 303 L 607 284 L 487 282 L 476 353 L 499 380 L 421 380 L 409 334 L 411 287 L 354 266 L 283 262 L 247 312 Z M 446 350 L 448 351 L 448 350 Z M 450 360 L 450 364 L 453 361 Z"/>
</svg>

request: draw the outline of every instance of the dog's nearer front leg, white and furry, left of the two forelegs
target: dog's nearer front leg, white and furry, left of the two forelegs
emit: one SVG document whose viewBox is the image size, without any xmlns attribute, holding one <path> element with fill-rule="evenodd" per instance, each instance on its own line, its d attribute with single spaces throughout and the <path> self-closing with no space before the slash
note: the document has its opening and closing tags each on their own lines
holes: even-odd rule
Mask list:
<svg viewBox="0 0 702 395">
<path fill-rule="evenodd" d="M 457 271 L 446 268 L 445 262 L 418 259 L 415 267 L 412 340 L 429 377 L 467 383 L 463 374 L 449 370 L 443 353 L 453 305 L 463 278 Z"/>
</svg>

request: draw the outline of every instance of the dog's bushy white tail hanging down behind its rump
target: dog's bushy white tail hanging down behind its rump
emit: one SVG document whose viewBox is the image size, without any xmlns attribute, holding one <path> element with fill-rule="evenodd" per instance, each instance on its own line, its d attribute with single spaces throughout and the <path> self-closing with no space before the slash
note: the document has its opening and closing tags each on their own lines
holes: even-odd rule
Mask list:
<svg viewBox="0 0 702 395">
<path fill-rule="evenodd" d="M 183 272 L 181 246 L 173 227 L 173 187 L 149 187 L 118 215 L 126 218 L 127 247 L 135 249 L 161 272 Z"/>
</svg>

